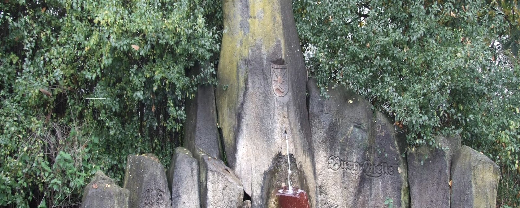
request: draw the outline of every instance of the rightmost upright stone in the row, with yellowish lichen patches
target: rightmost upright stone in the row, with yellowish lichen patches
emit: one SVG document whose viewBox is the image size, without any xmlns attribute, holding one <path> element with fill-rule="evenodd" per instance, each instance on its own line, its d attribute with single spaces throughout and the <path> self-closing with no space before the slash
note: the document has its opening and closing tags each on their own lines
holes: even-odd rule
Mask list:
<svg viewBox="0 0 520 208">
<path fill-rule="evenodd" d="M 462 146 L 451 161 L 451 208 L 495 207 L 500 180 L 498 165 Z"/>
</svg>

